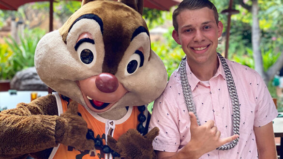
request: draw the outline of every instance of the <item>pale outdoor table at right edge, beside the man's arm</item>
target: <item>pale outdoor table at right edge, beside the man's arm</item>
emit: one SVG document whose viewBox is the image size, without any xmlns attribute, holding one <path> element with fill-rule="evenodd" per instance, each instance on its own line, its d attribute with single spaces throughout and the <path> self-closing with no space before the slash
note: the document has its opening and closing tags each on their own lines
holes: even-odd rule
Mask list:
<svg viewBox="0 0 283 159">
<path fill-rule="evenodd" d="M 279 114 L 283 114 L 283 112 L 279 112 Z M 273 131 L 275 137 L 280 137 L 280 154 L 278 155 L 280 155 L 280 159 L 283 159 L 283 117 L 273 120 Z"/>
</svg>

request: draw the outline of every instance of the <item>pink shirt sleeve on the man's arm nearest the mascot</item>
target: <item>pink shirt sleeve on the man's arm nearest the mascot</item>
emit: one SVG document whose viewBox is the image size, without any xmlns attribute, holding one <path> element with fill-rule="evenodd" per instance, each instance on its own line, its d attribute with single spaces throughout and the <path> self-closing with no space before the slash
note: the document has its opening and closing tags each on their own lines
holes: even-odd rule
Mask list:
<svg viewBox="0 0 283 159">
<path fill-rule="evenodd" d="M 179 117 L 174 105 L 161 95 L 154 102 L 153 111 L 149 123 L 149 129 L 159 128 L 159 135 L 152 145 L 154 150 L 177 152 L 180 144 Z"/>
</svg>

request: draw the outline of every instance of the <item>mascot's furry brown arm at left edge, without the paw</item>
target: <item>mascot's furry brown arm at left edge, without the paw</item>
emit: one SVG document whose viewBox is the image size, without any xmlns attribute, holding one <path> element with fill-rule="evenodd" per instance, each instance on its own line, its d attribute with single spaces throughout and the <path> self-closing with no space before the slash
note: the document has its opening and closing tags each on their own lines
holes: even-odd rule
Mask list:
<svg viewBox="0 0 283 159">
<path fill-rule="evenodd" d="M 15 158 L 57 145 L 56 98 L 47 95 L 0 112 L 0 159 Z"/>
</svg>

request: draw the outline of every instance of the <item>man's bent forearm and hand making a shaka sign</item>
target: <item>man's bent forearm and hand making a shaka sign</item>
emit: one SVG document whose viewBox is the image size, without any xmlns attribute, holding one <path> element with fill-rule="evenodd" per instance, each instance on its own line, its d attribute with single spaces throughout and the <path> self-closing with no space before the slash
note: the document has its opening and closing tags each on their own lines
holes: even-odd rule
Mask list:
<svg viewBox="0 0 283 159">
<path fill-rule="evenodd" d="M 217 130 L 217 127 L 214 126 L 214 121 L 210 120 L 204 125 L 198 126 L 194 113 L 189 112 L 189 114 L 191 120 L 191 141 L 178 153 L 156 151 L 158 159 L 198 159 L 205 153 L 238 138 L 238 135 L 233 135 L 220 139 L 221 133 Z"/>
</svg>

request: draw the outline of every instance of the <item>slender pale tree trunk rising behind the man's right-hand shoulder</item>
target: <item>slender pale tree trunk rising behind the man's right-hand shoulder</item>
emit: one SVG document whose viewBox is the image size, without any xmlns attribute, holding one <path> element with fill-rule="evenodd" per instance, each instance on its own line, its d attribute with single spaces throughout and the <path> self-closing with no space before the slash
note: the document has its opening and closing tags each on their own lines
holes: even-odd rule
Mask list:
<svg viewBox="0 0 283 159">
<path fill-rule="evenodd" d="M 254 69 L 260 74 L 264 79 L 266 84 L 268 83 L 266 74 L 263 69 L 263 61 L 260 50 L 260 29 L 258 22 L 258 3 L 257 0 L 253 0 L 252 5 L 252 14 L 253 14 L 253 26 L 252 26 L 252 44 L 253 44 L 253 59 L 254 59 Z"/>
</svg>

